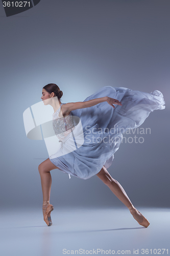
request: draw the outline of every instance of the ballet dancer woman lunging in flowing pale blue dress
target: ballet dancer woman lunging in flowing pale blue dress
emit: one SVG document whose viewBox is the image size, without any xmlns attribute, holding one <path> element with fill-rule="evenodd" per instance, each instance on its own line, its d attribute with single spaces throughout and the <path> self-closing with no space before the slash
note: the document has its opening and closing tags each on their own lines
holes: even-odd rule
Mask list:
<svg viewBox="0 0 170 256">
<path fill-rule="evenodd" d="M 140 126 L 150 112 L 165 108 L 162 93 L 156 90 L 149 94 L 108 86 L 101 88 L 83 102 L 75 103 L 61 103 L 62 95 L 62 91 L 54 83 L 47 84 L 42 89 L 41 99 L 45 105 L 50 104 L 54 109 L 53 128 L 62 142 L 59 151 L 38 167 L 43 194 L 44 221 L 48 226 L 52 225 L 51 211 L 54 207 L 50 204 L 52 184 L 50 171 L 60 169 L 68 175 L 81 179 L 98 176 L 128 207 L 134 219 L 140 225 L 148 227 L 149 221 L 133 206 L 124 188 L 110 176 L 107 168 L 112 164 L 114 153 L 123 139 L 122 133 Z M 81 121 L 79 123 L 82 126 L 81 135 L 84 137 L 84 143 L 75 150 L 70 150 L 70 145 L 74 144 L 71 134 L 77 131 L 80 136 L 80 126 L 75 125 L 72 119 L 76 116 Z"/>
</svg>

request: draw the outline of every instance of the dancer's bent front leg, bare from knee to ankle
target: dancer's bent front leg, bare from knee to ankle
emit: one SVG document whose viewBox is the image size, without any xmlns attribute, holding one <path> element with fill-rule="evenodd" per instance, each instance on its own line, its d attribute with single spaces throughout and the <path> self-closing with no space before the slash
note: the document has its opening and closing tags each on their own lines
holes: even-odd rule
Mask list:
<svg viewBox="0 0 170 256">
<path fill-rule="evenodd" d="M 43 201 L 50 201 L 50 192 L 52 185 L 52 177 L 50 171 L 53 169 L 58 169 L 58 167 L 55 166 L 49 158 L 43 161 L 38 166 L 39 174 L 41 177 Z"/>
</svg>

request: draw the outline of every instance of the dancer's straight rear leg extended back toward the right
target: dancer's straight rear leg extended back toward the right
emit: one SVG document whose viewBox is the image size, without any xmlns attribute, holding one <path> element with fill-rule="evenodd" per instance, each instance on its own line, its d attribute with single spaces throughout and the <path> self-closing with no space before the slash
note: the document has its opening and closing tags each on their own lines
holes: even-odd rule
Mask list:
<svg viewBox="0 0 170 256">
<path fill-rule="evenodd" d="M 124 188 L 118 183 L 118 181 L 111 177 L 105 166 L 102 167 L 97 176 L 110 188 L 113 194 L 120 201 L 122 201 L 128 208 L 133 209 L 133 217 L 135 217 L 135 220 L 142 222 L 143 216 L 140 214 L 140 212 L 135 211 L 135 208 L 131 203 L 128 195 L 126 194 Z"/>
</svg>

